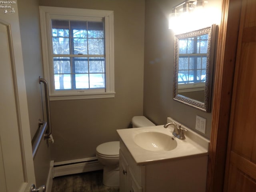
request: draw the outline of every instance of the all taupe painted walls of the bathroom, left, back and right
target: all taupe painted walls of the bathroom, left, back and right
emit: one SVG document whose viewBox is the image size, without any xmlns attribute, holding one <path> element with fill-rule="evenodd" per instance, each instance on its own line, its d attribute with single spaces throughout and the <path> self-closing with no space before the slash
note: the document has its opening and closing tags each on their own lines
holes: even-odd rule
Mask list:
<svg viewBox="0 0 256 192">
<path fill-rule="evenodd" d="M 50 156 L 43 141 L 34 160 L 38 186 L 46 183 L 50 160 L 59 162 L 95 156 L 96 146 L 117 140 L 116 129 L 129 127 L 135 115 L 143 114 L 156 124 L 164 124 L 166 117 L 171 116 L 190 128 L 195 127 L 195 118 L 199 115 L 207 119 L 205 136 L 210 137 L 211 113 L 172 100 L 174 34 L 168 30 L 168 14 L 179 0 L 19 2 L 32 137 L 38 119 L 43 119 L 38 83 L 38 77 L 43 77 L 38 5 L 114 10 L 116 96 L 50 102 L 55 142 Z"/>
</svg>

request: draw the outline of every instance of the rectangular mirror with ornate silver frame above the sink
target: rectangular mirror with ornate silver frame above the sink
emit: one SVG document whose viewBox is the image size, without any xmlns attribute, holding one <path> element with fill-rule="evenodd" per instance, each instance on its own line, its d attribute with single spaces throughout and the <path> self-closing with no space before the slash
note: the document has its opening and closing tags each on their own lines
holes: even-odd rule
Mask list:
<svg viewBox="0 0 256 192">
<path fill-rule="evenodd" d="M 174 43 L 173 99 L 210 112 L 215 24 L 178 34 Z"/>
</svg>

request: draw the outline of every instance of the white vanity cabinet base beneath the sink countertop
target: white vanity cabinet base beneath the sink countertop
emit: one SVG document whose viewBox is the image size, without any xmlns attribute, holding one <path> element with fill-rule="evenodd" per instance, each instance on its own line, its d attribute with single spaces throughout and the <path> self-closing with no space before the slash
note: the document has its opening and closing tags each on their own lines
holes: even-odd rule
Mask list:
<svg viewBox="0 0 256 192">
<path fill-rule="evenodd" d="M 207 163 L 208 155 L 137 164 L 121 139 L 120 192 L 205 192 Z"/>
</svg>

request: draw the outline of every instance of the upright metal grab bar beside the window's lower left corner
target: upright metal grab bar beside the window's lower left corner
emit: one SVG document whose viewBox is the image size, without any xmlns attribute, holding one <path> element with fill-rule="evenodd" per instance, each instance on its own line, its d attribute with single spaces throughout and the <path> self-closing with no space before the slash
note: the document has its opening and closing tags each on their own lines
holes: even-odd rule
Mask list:
<svg viewBox="0 0 256 192">
<path fill-rule="evenodd" d="M 48 83 L 44 78 L 40 78 L 39 76 L 39 83 L 44 84 L 44 94 L 45 94 L 45 104 L 46 104 L 46 118 L 48 122 L 48 129 L 46 134 L 44 135 L 46 138 L 49 138 L 50 134 L 52 134 L 52 127 L 51 127 L 51 117 L 50 117 L 50 103 L 49 103 L 49 90 L 48 90 Z"/>
</svg>

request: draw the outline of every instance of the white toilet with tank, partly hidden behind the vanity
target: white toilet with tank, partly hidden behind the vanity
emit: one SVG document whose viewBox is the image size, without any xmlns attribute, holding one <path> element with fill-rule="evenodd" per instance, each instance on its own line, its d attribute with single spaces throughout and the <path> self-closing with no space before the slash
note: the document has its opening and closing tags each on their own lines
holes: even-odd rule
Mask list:
<svg viewBox="0 0 256 192">
<path fill-rule="evenodd" d="M 155 126 L 144 116 L 134 116 L 132 127 Z M 119 141 L 102 143 L 96 148 L 96 156 L 103 164 L 103 184 L 105 186 L 119 186 Z"/>
</svg>

